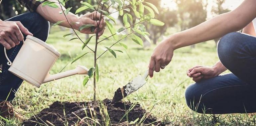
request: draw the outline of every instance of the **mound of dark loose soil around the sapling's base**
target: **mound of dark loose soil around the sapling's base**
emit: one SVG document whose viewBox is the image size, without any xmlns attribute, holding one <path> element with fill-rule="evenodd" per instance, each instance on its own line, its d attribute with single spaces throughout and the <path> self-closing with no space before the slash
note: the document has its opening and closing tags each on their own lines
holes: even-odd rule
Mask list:
<svg viewBox="0 0 256 126">
<path fill-rule="evenodd" d="M 136 119 L 145 125 L 161 125 L 156 117 L 149 114 L 140 104 L 119 101 L 111 103 L 110 99 L 98 101 L 97 105 L 91 102 L 60 102 L 56 101 L 49 108 L 43 109 L 39 114 L 32 116 L 23 122 L 25 126 L 55 125 L 63 126 L 87 126 L 102 125 L 109 122 L 112 126 L 127 126 L 129 122 Z M 107 111 L 107 112 L 106 112 Z M 128 114 L 127 114 L 128 113 Z M 128 115 L 128 116 L 124 116 Z M 127 122 L 128 120 L 128 122 Z M 52 123 L 52 124 L 51 124 Z M 132 126 L 133 124 L 129 124 Z"/>
</svg>

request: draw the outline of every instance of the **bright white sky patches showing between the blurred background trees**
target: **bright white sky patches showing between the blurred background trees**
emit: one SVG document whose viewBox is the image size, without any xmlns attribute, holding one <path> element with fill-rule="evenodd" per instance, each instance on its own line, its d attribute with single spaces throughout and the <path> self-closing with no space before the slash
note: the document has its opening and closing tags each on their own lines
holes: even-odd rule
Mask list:
<svg viewBox="0 0 256 126">
<path fill-rule="evenodd" d="M 173 0 L 162 0 L 163 3 L 165 3 L 168 7 L 171 9 L 176 8 L 176 4 L 172 2 Z M 225 3 L 223 4 L 224 8 L 228 8 L 230 10 L 234 10 L 236 7 L 238 7 L 244 0 L 226 0 Z M 208 6 L 207 6 L 207 11 L 208 11 L 208 18 L 211 17 L 211 8 L 214 5 L 214 0 L 208 0 Z"/>
</svg>

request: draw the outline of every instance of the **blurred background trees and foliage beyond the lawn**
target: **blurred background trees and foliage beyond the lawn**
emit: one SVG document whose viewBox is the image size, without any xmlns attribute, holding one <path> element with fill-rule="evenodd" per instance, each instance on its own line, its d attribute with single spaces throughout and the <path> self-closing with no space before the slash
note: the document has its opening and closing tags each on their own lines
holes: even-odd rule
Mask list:
<svg viewBox="0 0 256 126">
<path fill-rule="evenodd" d="M 165 23 L 164 27 L 153 26 L 145 24 L 147 31 L 151 34 L 150 39 L 153 44 L 156 44 L 161 37 L 170 35 L 175 32 L 184 31 L 192 28 L 207 19 L 207 6 L 208 0 L 170 0 L 170 3 L 175 3 L 176 8 L 169 7 L 169 4 L 164 5 L 162 0 L 145 0 L 154 4 L 159 9 L 159 14 L 156 15 L 156 19 Z M 212 0 L 211 17 L 229 12 L 230 10 L 223 8 L 222 4 L 225 0 Z M 72 7 L 70 12 L 74 13 L 77 8 L 80 7 L 81 0 L 69 0 L 66 4 L 66 8 Z M 83 2 L 96 4 L 94 0 L 83 0 Z M 209 11 L 209 10 L 208 10 Z M 16 0 L 2 0 L 0 5 L 0 19 L 6 20 L 16 15 L 28 12 L 28 10 L 21 6 Z M 86 13 L 86 12 L 84 12 Z M 131 15 L 133 11 L 128 12 Z M 122 22 L 123 17 L 119 16 L 118 19 Z M 88 35 L 87 35 L 88 36 Z M 148 43 L 144 40 L 144 43 Z M 218 39 L 215 39 L 217 43 Z M 145 44 L 145 46 L 150 44 Z M 192 48 L 194 47 L 191 46 Z"/>
</svg>

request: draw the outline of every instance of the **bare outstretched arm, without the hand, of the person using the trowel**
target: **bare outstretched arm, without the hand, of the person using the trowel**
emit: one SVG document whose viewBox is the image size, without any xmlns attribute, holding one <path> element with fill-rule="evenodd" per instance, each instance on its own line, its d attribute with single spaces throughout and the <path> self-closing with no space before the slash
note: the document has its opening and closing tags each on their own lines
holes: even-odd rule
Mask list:
<svg viewBox="0 0 256 126">
<path fill-rule="evenodd" d="M 256 1 L 245 0 L 236 10 L 212 18 L 194 28 L 169 37 L 173 48 L 212 40 L 236 32 L 248 25 L 256 17 Z"/>
</svg>

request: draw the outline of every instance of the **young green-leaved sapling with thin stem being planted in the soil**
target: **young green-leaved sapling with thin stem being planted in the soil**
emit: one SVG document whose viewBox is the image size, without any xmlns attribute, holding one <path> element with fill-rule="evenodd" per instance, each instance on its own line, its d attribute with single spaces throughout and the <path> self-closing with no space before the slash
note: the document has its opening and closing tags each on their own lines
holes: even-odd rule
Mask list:
<svg viewBox="0 0 256 126">
<path fill-rule="evenodd" d="M 58 0 L 57 2 L 51 2 L 51 1 L 45 1 L 43 3 L 43 6 L 50 6 L 53 8 L 57 8 L 61 5 L 65 6 L 65 2 L 67 2 L 67 0 Z M 98 68 L 98 64 L 97 64 L 97 60 L 107 51 L 110 52 L 115 58 L 117 58 L 117 54 L 116 52 L 121 52 L 123 53 L 122 50 L 118 50 L 118 49 L 112 49 L 112 47 L 119 43 L 120 45 L 122 45 L 125 49 L 128 49 L 128 46 L 125 45 L 124 43 L 120 43 L 120 41 L 126 37 L 131 38 L 134 42 L 136 42 L 137 44 L 143 46 L 143 40 L 137 36 L 136 34 L 140 34 L 142 35 L 145 39 L 149 40 L 149 33 L 146 32 L 146 27 L 142 24 L 142 23 L 150 23 L 152 25 L 155 26 L 164 26 L 165 24 L 157 19 L 155 19 L 155 13 L 159 13 L 157 7 L 149 2 L 144 2 L 144 0 L 99 0 L 97 1 L 97 5 L 92 5 L 88 2 L 81 2 L 80 4 L 82 5 L 82 7 L 78 8 L 75 10 L 75 13 L 83 13 L 85 11 L 96 11 L 100 13 L 100 19 L 99 21 L 101 21 L 102 18 L 107 17 L 105 22 L 106 22 L 106 26 L 108 28 L 108 30 L 110 31 L 111 35 L 110 36 L 104 36 L 105 38 L 102 40 L 98 40 L 98 32 L 96 32 L 96 41 L 95 41 L 95 50 L 93 51 L 91 48 L 89 48 L 87 46 L 87 44 L 92 40 L 91 38 L 94 36 L 89 37 L 88 39 L 86 39 L 85 41 L 81 40 L 80 37 L 78 36 L 78 34 L 76 34 L 76 32 L 74 32 L 74 34 L 76 35 L 76 37 L 73 37 L 71 40 L 74 39 L 79 39 L 83 45 L 82 45 L 82 50 L 87 47 L 88 49 L 90 49 L 92 52 L 85 52 L 83 54 L 78 55 L 76 58 L 73 59 L 73 61 L 71 62 L 74 63 L 75 61 L 77 61 L 78 59 L 84 57 L 86 54 L 88 53 L 94 53 L 94 66 L 91 67 L 88 71 L 88 76 L 86 76 L 83 80 L 83 86 L 85 86 L 89 79 L 93 77 L 93 83 L 94 83 L 94 101 L 96 101 L 95 97 L 96 97 L 96 81 L 99 80 L 99 68 Z M 58 5 L 59 4 L 59 5 Z M 109 12 L 109 8 L 111 8 L 111 10 L 116 10 L 113 12 Z M 69 11 L 71 11 L 72 7 L 67 8 L 66 10 L 63 10 L 62 6 L 61 6 L 62 12 L 60 12 L 60 14 L 64 13 L 64 16 L 66 16 Z M 127 13 L 130 12 L 130 10 L 133 10 L 135 16 L 132 16 L 131 14 Z M 148 10 L 149 13 L 145 14 L 145 10 Z M 154 10 L 154 11 L 153 11 Z M 115 27 L 113 26 L 114 24 L 116 24 L 116 21 L 113 17 L 111 17 L 111 14 L 113 13 L 119 13 L 120 16 L 123 16 L 123 23 L 124 23 L 124 28 L 120 28 L 116 31 Z M 68 19 L 68 18 L 66 18 Z M 135 20 L 135 22 L 134 22 Z M 54 24 L 54 26 L 59 25 L 61 23 L 63 23 L 64 21 L 60 21 Z M 71 25 L 73 24 L 73 22 L 69 22 L 67 20 L 67 22 Z M 72 28 L 72 27 L 71 27 Z M 91 29 L 91 31 L 95 28 L 99 29 L 99 26 L 94 26 L 94 25 L 82 25 L 79 27 L 79 31 L 82 31 L 84 29 Z M 136 33 L 136 34 L 135 34 Z M 71 33 L 73 34 L 73 33 Z M 71 34 L 65 34 L 63 37 L 69 36 Z M 104 46 L 101 42 L 104 42 L 104 40 L 106 39 L 110 39 L 111 37 L 114 38 L 114 40 L 116 42 L 114 42 L 110 47 Z M 97 55 L 97 47 L 98 44 L 101 43 L 100 45 L 104 46 L 106 48 L 106 51 L 103 52 L 100 55 Z M 95 102 L 96 103 L 96 102 Z"/>
</svg>

